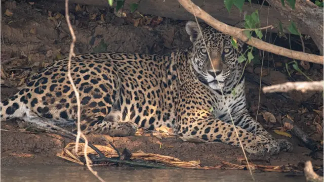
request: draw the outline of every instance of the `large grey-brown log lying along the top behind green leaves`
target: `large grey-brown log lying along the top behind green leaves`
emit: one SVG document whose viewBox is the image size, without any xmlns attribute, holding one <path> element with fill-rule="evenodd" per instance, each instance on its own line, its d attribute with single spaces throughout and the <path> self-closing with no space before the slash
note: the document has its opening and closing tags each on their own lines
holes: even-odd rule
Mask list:
<svg viewBox="0 0 324 182">
<path fill-rule="evenodd" d="M 62 2 L 64 0 L 55 0 Z M 94 5 L 98 7 L 109 7 L 107 0 L 70 0 L 70 3 L 81 4 L 81 5 Z M 126 0 L 124 9 L 129 10 L 129 4 L 137 3 L 138 0 Z M 232 7 L 230 14 L 224 6 L 223 0 L 193 0 L 194 4 L 199 6 L 201 9 L 205 10 L 214 18 L 220 20 L 221 22 L 234 25 L 239 21 L 244 20 L 243 13 L 239 13 L 236 7 Z M 280 1 L 278 1 L 280 2 Z M 115 6 L 115 5 L 114 5 Z M 243 6 L 243 11 L 247 14 L 251 14 L 256 10 L 260 10 L 261 5 L 245 3 Z M 194 20 L 194 17 L 187 12 L 183 7 L 181 7 L 178 1 L 151 1 L 151 0 L 141 0 L 138 6 L 138 11 L 142 14 L 151 14 L 161 17 L 173 18 L 176 20 Z M 279 22 L 282 23 L 283 27 L 287 28 L 290 25 L 290 21 L 285 16 L 280 15 L 274 8 L 269 8 L 268 17 L 268 7 L 263 6 L 261 11 L 259 11 L 261 27 L 267 25 L 273 25 L 274 29 L 268 29 L 268 32 L 277 32 Z M 268 21 L 268 24 L 267 24 Z M 244 24 L 237 25 L 239 28 L 243 28 Z M 308 34 L 309 29 L 299 27 L 301 33 Z M 289 33 L 288 31 L 286 33 Z"/>
</svg>

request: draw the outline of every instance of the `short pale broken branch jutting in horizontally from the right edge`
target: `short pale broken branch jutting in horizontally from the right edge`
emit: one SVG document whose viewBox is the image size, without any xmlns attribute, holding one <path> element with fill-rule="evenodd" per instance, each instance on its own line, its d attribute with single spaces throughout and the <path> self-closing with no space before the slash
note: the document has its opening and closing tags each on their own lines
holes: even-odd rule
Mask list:
<svg viewBox="0 0 324 182">
<path fill-rule="evenodd" d="M 262 88 L 263 93 L 275 93 L 275 92 L 290 92 L 297 90 L 302 93 L 306 91 L 323 91 L 323 80 L 321 81 L 297 81 L 286 82 L 282 84 L 276 84 L 271 86 L 265 86 Z"/>
</svg>

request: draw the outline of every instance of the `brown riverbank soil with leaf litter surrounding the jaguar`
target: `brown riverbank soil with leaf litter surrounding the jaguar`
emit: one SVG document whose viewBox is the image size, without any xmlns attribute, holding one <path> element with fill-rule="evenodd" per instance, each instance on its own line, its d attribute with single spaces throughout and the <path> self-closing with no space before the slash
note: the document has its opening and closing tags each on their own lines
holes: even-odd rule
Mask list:
<svg viewBox="0 0 324 182">
<path fill-rule="evenodd" d="M 3 101 L 14 95 L 18 91 L 17 88 L 26 83 L 27 75 L 35 73 L 38 68 L 61 57 L 67 57 L 71 38 L 65 19 L 58 14 L 64 15 L 64 4 L 49 1 L 35 3 L 2 1 L 2 4 L 1 100 Z M 165 54 L 190 45 L 189 37 L 184 29 L 185 22 L 163 18 L 160 22 L 157 19 L 154 26 L 152 22 L 145 25 L 148 20 L 141 20 L 136 25 L 136 20 L 129 18 L 129 14 L 127 18 L 119 18 L 111 10 L 91 6 L 80 8 L 80 11 L 76 11 L 79 10 L 77 5 L 70 6 L 72 12 L 70 16 L 72 16 L 77 40 L 75 54 L 95 51 Z M 10 13 L 6 13 L 6 10 Z M 49 15 L 53 18 L 49 18 Z M 145 17 L 147 19 L 153 17 L 154 20 L 154 16 Z M 285 42 L 285 39 L 278 38 L 278 40 L 277 43 Z M 304 41 L 306 48 L 312 50 L 313 42 Z M 293 46 L 296 46 L 296 50 L 301 49 L 298 43 L 293 43 Z M 285 63 L 290 61 L 288 58 L 266 54 L 266 64 L 262 70 L 263 84 L 307 80 L 304 75 L 293 69 L 290 70 L 292 77 L 289 77 L 284 67 Z M 322 79 L 321 65 L 310 64 L 308 66 L 309 68 L 306 65 L 301 69 L 309 78 Z M 250 75 L 247 76 L 246 87 L 248 106 L 254 117 L 259 105 L 260 70 L 260 64 L 249 65 L 246 70 Z M 315 111 L 322 111 L 322 105 L 322 93 L 292 92 L 286 95 L 261 93 L 259 113 L 270 112 L 277 121 L 288 114 L 294 119 L 296 125 L 307 132 L 312 139 L 320 142 L 323 138 L 323 114 Z M 265 121 L 262 114 L 259 114 L 257 118 L 271 133 L 274 128 L 280 127 L 278 122 Z M 56 153 L 61 152 L 62 148 L 72 142 L 71 140 L 56 134 L 29 132 L 28 128 L 26 129 L 24 124 L 18 120 L 2 122 L 1 128 L 1 165 L 75 165 L 56 157 Z M 318 165 L 323 163 L 322 159 L 315 160 L 308 156 L 311 151 L 304 147 L 295 136 L 289 138 L 276 133 L 273 135 L 275 138 L 288 139 L 292 142 L 293 152 L 280 152 L 271 157 L 250 156 L 250 158 L 267 159 L 270 161 L 265 163 L 267 165 L 297 164 L 307 160 Z M 107 142 L 99 135 L 89 135 L 88 138 L 94 144 L 107 145 Z M 127 148 L 131 152 L 142 150 L 147 153 L 177 157 L 185 161 L 200 160 L 202 165 L 218 165 L 222 160 L 236 163 L 237 158 L 243 156 L 240 148 L 226 144 L 196 144 L 181 142 L 176 138 L 160 140 L 154 136 L 129 136 L 126 138 L 109 137 L 109 140 L 119 150 Z M 319 152 L 318 156 L 323 156 L 322 152 Z"/>
</svg>

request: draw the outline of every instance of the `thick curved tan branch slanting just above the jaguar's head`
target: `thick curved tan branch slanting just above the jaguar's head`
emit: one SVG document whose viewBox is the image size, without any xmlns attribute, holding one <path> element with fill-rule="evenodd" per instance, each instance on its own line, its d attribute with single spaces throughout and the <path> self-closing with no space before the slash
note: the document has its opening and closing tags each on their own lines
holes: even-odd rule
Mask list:
<svg viewBox="0 0 324 182">
<path fill-rule="evenodd" d="M 271 43 L 264 42 L 260 39 L 251 37 L 247 37 L 243 32 L 244 29 L 236 28 L 229 26 L 225 23 L 218 21 L 217 19 L 213 18 L 211 15 L 206 13 L 204 10 L 200 9 L 190 0 L 178 0 L 178 2 L 184 7 L 189 13 L 193 14 L 196 13 L 196 16 L 201 20 L 204 20 L 206 23 L 211 25 L 213 28 L 229 34 L 235 38 L 238 38 L 249 45 L 252 45 L 260 50 L 264 50 L 270 53 L 274 53 L 276 55 L 285 56 L 292 59 L 298 59 L 303 61 L 308 61 L 317 64 L 323 64 L 323 56 L 317 56 L 313 54 L 307 54 L 299 51 L 292 51 L 286 48 L 279 47 L 277 45 L 273 45 Z"/>
</svg>

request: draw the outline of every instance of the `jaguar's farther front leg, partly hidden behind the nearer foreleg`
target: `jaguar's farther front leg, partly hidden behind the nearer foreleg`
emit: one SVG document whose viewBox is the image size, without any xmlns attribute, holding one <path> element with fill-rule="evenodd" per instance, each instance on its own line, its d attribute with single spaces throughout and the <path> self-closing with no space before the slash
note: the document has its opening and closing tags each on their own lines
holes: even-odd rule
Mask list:
<svg viewBox="0 0 324 182">
<path fill-rule="evenodd" d="M 263 128 L 263 126 L 259 122 L 257 122 L 254 118 L 251 117 L 248 111 L 240 113 L 233 119 L 234 119 L 234 124 L 236 126 L 240 126 L 241 128 L 246 129 L 247 131 L 253 134 L 263 135 L 268 139 L 276 140 L 267 130 Z M 287 140 L 281 139 L 276 141 L 279 143 L 280 151 L 291 152 L 293 150 L 293 145 Z"/>
</svg>

